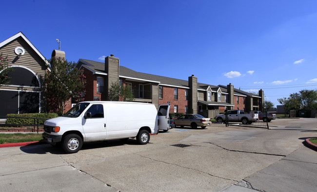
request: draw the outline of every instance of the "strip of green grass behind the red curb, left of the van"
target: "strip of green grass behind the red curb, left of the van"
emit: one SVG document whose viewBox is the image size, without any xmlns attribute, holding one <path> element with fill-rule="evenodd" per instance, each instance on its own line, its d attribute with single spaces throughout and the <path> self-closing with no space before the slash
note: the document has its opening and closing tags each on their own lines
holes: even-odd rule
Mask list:
<svg viewBox="0 0 317 192">
<path fill-rule="evenodd" d="M 0 133 L 0 144 L 3 143 L 16 143 L 16 142 L 30 142 L 42 140 L 42 134 L 40 133 Z"/>
</svg>

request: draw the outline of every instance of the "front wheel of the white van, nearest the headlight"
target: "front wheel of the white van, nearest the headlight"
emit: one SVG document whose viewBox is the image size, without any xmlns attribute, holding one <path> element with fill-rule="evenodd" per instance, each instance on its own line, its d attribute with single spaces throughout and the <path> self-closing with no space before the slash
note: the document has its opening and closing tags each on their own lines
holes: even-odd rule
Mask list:
<svg viewBox="0 0 317 192">
<path fill-rule="evenodd" d="M 82 147 L 82 139 L 77 134 L 69 134 L 64 137 L 61 143 L 66 153 L 77 153 Z"/>
</svg>

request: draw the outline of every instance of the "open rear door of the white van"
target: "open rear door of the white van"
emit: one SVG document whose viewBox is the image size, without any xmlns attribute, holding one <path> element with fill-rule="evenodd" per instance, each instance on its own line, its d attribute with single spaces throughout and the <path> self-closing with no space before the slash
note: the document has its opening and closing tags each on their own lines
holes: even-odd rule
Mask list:
<svg viewBox="0 0 317 192">
<path fill-rule="evenodd" d="M 169 118 L 170 105 L 159 105 L 158 115 L 157 115 L 157 125 L 158 129 L 163 131 L 168 131 L 170 128 L 170 118 Z M 157 130 L 158 132 L 158 130 Z"/>
</svg>

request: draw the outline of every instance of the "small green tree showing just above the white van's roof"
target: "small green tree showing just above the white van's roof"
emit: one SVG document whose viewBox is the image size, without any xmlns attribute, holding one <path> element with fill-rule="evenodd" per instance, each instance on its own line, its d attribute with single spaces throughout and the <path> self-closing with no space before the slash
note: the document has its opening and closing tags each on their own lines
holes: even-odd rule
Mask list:
<svg viewBox="0 0 317 192">
<path fill-rule="evenodd" d="M 110 101 L 133 101 L 134 95 L 132 89 L 128 85 L 119 85 L 114 83 L 109 88 L 109 100 Z"/>
</svg>

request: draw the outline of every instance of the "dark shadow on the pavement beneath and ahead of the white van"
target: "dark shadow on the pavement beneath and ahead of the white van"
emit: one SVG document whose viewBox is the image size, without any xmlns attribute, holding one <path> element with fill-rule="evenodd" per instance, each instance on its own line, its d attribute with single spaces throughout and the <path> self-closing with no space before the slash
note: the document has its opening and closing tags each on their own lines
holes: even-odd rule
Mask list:
<svg viewBox="0 0 317 192">
<path fill-rule="evenodd" d="M 151 143 L 151 142 L 149 142 Z M 98 149 L 105 147 L 114 147 L 121 145 L 139 145 L 136 139 L 129 140 L 104 140 L 94 142 L 84 142 L 80 150 Z M 53 146 L 51 144 L 30 144 L 20 147 L 20 150 L 28 154 L 66 154 L 60 146 Z"/>
</svg>

